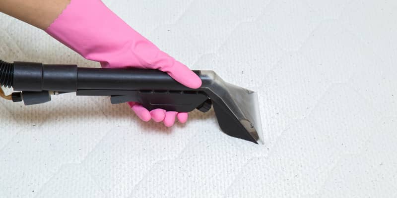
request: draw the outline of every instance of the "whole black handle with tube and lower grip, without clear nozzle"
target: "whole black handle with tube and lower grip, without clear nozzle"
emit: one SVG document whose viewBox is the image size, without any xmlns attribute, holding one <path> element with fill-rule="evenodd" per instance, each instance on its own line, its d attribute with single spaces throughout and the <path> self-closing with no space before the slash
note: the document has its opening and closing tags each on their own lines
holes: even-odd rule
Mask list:
<svg viewBox="0 0 397 198">
<path fill-rule="evenodd" d="M 14 101 L 26 105 L 51 100 L 49 91 L 76 92 L 77 96 L 111 96 L 112 103 L 136 101 L 149 110 L 189 112 L 209 110 L 205 92 L 183 86 L 167 73 L 154 69 L 79 68 L 77 65 L 43 65 L 14 62 Z M 200 71 L 195 71 L 200 76 Z M 209 107 L 208 107 L 209 106 Z"/>
</svg>

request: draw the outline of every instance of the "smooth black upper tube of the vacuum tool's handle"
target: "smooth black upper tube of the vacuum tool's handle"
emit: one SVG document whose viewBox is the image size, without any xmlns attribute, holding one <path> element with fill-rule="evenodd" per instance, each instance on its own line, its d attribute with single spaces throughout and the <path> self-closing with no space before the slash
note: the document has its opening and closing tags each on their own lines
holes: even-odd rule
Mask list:
<svg viewBox="0 0 397 198">
<path fill-rule="evenodd" d="M 194 71 L 200 76 L 199 71 Z M 13 88 L 16 91 L 77 90 L 193 90 L 167 73 L 154 69 L 78 68 L 77 65 L 43 65 L 14 62 Z"/>
</svg>

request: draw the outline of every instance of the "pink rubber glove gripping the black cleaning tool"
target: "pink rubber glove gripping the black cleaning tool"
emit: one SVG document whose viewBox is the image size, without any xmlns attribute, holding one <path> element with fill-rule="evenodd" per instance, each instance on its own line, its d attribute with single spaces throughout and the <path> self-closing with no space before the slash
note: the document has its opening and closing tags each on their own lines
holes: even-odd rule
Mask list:
<svg viewBox="0 0 397 198">
<path fill-rule="evenodd" d="M 184 64 L 158 49 L 113 13 L 101 0 L 71 0 L 46 32 L 84 58 L 99 61 L 102 67 L 158 69 L 190 88 L 201 86 L 200 78 Z M 177 116 L 184 123 L 185 112 L 148 111 L 128 102 L 136 115 L 172 126 Z"/>
</svg>

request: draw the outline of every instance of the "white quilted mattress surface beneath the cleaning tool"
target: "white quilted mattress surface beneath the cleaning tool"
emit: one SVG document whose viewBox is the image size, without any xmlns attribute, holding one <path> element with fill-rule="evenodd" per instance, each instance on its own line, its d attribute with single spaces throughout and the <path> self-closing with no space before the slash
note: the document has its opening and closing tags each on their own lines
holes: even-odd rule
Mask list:
<svg viewBox="0 0 397 198">
<path fill-rule="evenodd" d="M 396 2 L 106 0 L 192 69 L 257 91 L 265 145 L 213 111 L 167 129 L 108 98 L 0 100 L 0 198 L 396 197 Z M 99 67 L 0 24 L 1 59 Z"/>
</svg>

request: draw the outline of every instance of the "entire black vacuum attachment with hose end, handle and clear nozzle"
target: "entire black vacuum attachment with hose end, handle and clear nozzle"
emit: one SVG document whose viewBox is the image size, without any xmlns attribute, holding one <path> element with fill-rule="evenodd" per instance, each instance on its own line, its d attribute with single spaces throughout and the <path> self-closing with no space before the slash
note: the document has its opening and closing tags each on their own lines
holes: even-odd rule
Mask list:
<svg viewBox="0 0 397 198">
<path fill-rule="evenodd" d="M 13 92 L 11 98 L 25 105 L 50 101 L 52 95 L 76 92 L 77 96 L 110 96 L 113 104 L 136 101 L 149 110 L 206 112 L 213 106 L 223 132 L 253 143 L 262 142 L 256 93 L 224 82 L 213 71 L 194 72 L 202 80 L 199 89 L 187 88 L 158 70 L 0 60 L 0 85 L 19 91 Z"/>
</svg>

